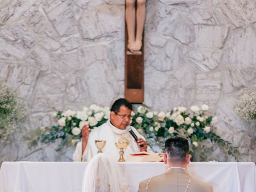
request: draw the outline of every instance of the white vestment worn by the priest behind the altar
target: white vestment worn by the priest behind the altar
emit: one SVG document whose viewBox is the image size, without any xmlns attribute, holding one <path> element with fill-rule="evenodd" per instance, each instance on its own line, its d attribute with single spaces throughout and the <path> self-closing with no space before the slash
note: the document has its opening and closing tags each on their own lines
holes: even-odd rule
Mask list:
<svg viewBox="0 0 256 192">
<path fill-rule="evenodd" d="M 145 138 L 139 134 L 136 128 L 132 126 L 131 128 L 138 138 L 145 140 Z M 102 152 L 109 154 L 117 161 L 120 157 L 120 150 L 116 147 L 115 142 L 118 142 L 119 139 L 122 140 L 123 137 L 129 140 L 128 146 L 124 149 L 124 158 L 130 153 L 140 152 L 140 149 L 138 148 L 138 145 L 132 135 L 127 130 L 116 128 L 110 123 L 110 120 L 108 120 L 98 128 L 94 128 L 89 134 L 88 142 L 83 154 L 82 141 L 78 142 L 76 145 L 76 150 L 73 154 L 73 161 L 90 161 L 98 152 L 98 148 L 95 145 L 95 140 L 105 140 L 106 144 L 102 149 Z M 153 153 L 150 146 L 148 146 L 147 152 Z"/>
</svg>

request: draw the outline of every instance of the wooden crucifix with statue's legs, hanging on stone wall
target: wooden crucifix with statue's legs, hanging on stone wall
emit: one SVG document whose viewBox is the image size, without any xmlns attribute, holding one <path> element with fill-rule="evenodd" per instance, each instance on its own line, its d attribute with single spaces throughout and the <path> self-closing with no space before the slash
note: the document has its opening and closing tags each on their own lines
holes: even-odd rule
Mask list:
<svg viewBox="0 0 256 192">
<path fill-rule="evenodd" d="M 144 38 L 146 0 L 126 0 L 125 89 L 131 103 L 144 102 Z"/>
</svg>

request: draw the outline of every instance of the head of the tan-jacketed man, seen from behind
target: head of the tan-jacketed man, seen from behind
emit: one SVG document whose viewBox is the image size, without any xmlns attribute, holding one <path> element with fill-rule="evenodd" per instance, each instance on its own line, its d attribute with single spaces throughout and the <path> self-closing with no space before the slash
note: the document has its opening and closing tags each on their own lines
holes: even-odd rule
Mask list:
<svg viewBox="0 0 256 192">
<path fill-rule="evenodd" d="M 188 140 L 182 137 L 172 137 L 166 140 L 164 163 L 166 168 L 183 167 L 186 168 L 190 161 Z"/>
</svg>

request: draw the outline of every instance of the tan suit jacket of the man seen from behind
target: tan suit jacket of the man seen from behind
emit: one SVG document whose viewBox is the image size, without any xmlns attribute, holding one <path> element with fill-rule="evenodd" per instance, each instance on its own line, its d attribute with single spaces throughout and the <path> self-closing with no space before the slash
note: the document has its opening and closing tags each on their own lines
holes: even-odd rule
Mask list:
<svg viewBox="0 0 256 192">
<path fill-rule="evenodd" d="M 138 192 L 146 192 L 149 179 L 140 182 Z M 189 179 L 187 170 L 171 168 L 150 180 L 148 192 L 185 192 Z M 212 192 L 212 185 L 192 176 L 187 192 Z"/>
</svg>

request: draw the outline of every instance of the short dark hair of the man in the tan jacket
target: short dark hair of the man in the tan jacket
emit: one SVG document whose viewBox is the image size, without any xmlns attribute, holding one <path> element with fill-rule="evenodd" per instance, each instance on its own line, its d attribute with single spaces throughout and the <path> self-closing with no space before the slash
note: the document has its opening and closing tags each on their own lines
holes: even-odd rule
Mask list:
<svg viewBox="0 0 256 192">
<path fill-rule="evenodd" d="M 182 137 L 172 137 L 165 141 L 165 153 L 171 162 L 186 163 L 188 157 L 188 140 Z"/>
</svg>

